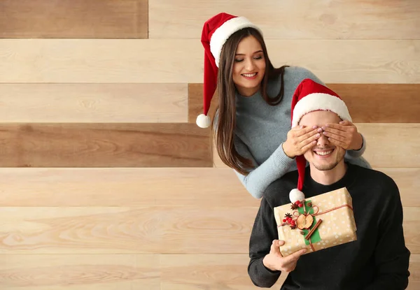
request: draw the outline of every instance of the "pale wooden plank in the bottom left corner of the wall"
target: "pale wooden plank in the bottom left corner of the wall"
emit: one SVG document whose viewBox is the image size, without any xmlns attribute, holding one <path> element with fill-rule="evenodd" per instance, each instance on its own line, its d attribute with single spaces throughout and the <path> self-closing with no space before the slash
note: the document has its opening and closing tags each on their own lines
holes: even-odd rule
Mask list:
<svg viewBox="0 0 420 290">
<path fill-rule="evenodd" d="M 158 255 L 1 255 L 2 289 L 160 290 Z"/>
</svg>

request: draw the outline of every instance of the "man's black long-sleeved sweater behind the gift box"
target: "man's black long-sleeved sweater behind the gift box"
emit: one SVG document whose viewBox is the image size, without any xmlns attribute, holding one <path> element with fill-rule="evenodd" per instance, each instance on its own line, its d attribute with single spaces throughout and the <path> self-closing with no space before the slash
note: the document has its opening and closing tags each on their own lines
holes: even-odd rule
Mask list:
<svg viewBox="0 0 420 290">
<path fill-rule="evenodd" d="M 281 290 L 406 289 L 410 252 L 402 230 L 402 205 L 395 182 L 384 173 L 346 164 L 346 174 L 330 185 L 315 182 L 306 169 L 306 198 L 346 187 L 353 200 L 357 240 L 300 256 Z M 272 287 L 280 271 L 266 268 L 272 240 L 279 238 L 273 208 L 290 204 L 297 171 L 273 182 L 262 197 L 250 238 L 248 275 L 258 287 Z M 286 241 L 287 242 L 287 241 Z"/>
</svg>

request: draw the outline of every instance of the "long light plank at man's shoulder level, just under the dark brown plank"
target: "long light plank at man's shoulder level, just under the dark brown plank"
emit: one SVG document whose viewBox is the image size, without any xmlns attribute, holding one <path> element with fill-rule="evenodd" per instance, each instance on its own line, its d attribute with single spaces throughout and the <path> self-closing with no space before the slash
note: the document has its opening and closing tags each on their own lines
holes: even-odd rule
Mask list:
<svg viewBox="0 0 420 290">
<path fill-rule="evenodd" d="M 420 207 L 420 168 L 374 168 Z M 259 206 L 230 168 L 0 168 L 2 206 Z"/>
</svg>

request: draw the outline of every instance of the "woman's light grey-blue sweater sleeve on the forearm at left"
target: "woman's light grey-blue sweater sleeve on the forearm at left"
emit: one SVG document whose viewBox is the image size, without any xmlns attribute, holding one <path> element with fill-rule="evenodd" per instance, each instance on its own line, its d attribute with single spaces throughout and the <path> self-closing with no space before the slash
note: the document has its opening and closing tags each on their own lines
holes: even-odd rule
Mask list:
<svg viewBox="0 0 420 290">
<path fill-rule="evenodd" d="M 284 153 L 282 145 L 280 144 L 267 160 L 258 165 L 248 147 L 239 138 L 235 138 L 237 152 L 242 157 L 251 159 L 256 167 L 248 175 L 235 171 L 241 183 L 253 197 L 261 198 L 269 184 L 288 173 L 290 166 L 295 162 L 295 159 L 291 159 Z"/>
</svg>

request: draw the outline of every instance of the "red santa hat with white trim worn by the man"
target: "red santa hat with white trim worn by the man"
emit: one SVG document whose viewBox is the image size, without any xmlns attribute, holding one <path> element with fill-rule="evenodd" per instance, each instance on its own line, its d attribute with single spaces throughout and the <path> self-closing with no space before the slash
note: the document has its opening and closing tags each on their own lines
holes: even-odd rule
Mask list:
<svg viewBox="0 0 420 290">
<path fill-rule="evenodd" d="M 336 113 L 343 121 L 348 120 L 351 122 L 346 103 L 344 103 L 335 92 L 309 78 L 302 80 L 293 94 L 292 128 L 299 124 L 300 119 L 302 119 L 304 115 L 316 110 L 329 110 Z M 304 171 L 307 164 L 307 160 L 303 155 L 297 156 L 295 159 L 299 177 L 297 180 L 297 188 L 292 189 L 289 194 L 292 203 L 304 199 L 302 187 L 304 182 Z"/>
</svg>

